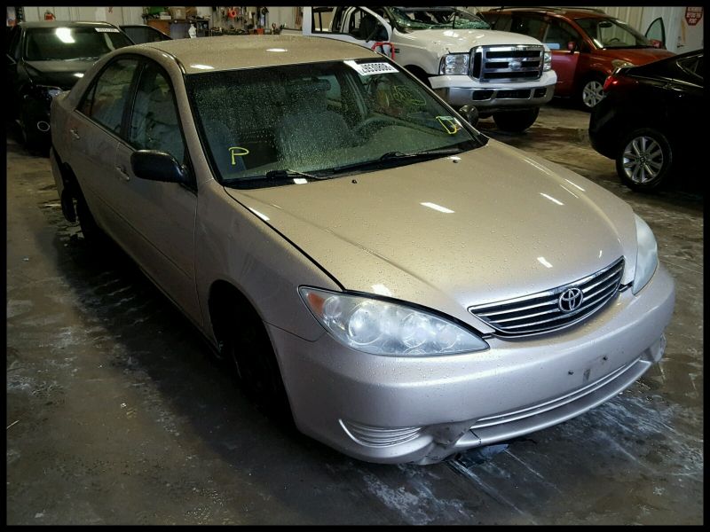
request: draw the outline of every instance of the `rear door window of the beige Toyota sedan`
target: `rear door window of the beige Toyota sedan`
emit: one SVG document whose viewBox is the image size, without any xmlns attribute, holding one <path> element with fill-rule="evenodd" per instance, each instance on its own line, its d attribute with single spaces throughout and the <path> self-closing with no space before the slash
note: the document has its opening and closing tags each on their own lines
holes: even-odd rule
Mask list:
<svg viewBox="0 0 710 532">
<path fill-rule="evenodd" d="M 136 59 L 120 59 L 108 66 L 84 95 L 79 111 L 118 135 L 136 66 Z"/>
</svg>

